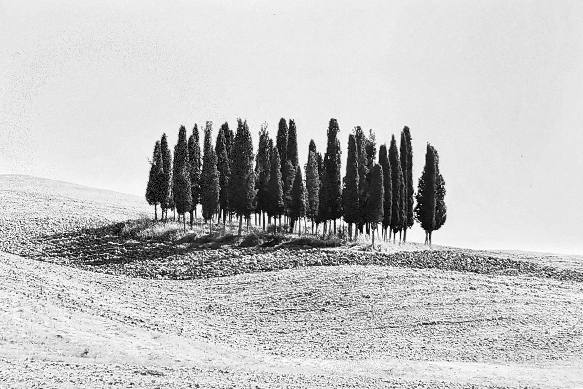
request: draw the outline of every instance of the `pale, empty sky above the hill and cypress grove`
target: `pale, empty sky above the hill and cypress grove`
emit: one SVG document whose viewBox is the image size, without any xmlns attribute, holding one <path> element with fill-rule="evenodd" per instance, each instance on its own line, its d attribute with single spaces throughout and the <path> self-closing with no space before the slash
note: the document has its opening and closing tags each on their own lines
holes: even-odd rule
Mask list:
<svg viewBox="0 0 583 389">
<path fill-rule="evenodd" d="M 162 3 L 0 1 L 0 174 L 144 196 L 181 125 L 257 148 L 294 119 L 301 165 L 332 117 L 343 161 L 406 125 L 415 183 L 440 156 L 434 243 L 583 254 L 583 2 Z"/>
</svg>

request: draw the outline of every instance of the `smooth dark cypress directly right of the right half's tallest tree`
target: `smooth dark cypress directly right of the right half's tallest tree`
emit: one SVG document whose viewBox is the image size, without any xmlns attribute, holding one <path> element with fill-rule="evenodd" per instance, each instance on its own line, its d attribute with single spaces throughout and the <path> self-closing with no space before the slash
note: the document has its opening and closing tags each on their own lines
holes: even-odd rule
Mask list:
<svg viewBox="0 0 583 389">
<path fill-rule="evenodd" d="M 313 154 L 313 153 L 312 153 Z M 348 234 L 352 238 L 352 224 L 361 221 L 360 193 L 359 193 L 359 166 L 357 162 L 356 137 L 348 136 L 348 154 L 346 157 L 346 176 L 344 177 L 344 220 L 348 223 Z"/>
</svg>

